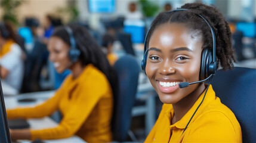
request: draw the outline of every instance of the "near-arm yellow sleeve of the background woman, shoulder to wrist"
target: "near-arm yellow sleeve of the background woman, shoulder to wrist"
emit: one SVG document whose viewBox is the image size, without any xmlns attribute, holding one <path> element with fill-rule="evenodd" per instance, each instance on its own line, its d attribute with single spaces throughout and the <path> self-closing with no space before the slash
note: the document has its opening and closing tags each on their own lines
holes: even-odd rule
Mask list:
<svg viewBox="0 0 256 143">
<path fill-rule="evenodd" d="M 90 79 L 81 83 L 84 85 L 78 87 L 79 92 L 76 92 L 78 94 L 72 95 L 74 98 L 72 106 L 60 124 L 51 129 L 31 130 L 32 139 L 68 138 L 81 128 L 100 98 L 109 92 L 106 77 L 97 75 L 90 76 Z"/>
</svg>

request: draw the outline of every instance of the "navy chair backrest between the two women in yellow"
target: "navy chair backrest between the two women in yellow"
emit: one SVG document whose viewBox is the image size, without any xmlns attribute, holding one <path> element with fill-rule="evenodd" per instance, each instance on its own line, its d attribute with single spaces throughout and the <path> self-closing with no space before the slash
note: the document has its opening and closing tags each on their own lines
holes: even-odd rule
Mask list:
<svg viewBox="0 0 256 143">
<path fill-rule="evenodd" d="M 116 97 L 112 128 L 114 140 L 122 142 L 127 139 L 131 123 L 140 67 L 134 57 L 125 55 L 116 61 L 114 68 L 118 74 L 119 93 Z"/>
</svg>

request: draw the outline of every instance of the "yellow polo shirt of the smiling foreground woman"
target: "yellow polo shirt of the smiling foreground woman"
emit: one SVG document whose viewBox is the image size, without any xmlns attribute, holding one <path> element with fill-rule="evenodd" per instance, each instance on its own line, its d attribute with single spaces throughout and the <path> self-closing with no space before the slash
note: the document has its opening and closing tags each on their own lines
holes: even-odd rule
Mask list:
<svg viewBox="0 0 256 143">
<path fill-rule="evenodd" d="M 242 142 L 238 120 L 232 111 L 220 102 L 220 98 L 215 97 L 211 85 L 205 100 L 183 133 L 204 94 L 205 91 L 184 117 L 173 125 L 171 120 L 174 109 L 171 104 L 164 104 L 145 142 Z"/>
</svg>

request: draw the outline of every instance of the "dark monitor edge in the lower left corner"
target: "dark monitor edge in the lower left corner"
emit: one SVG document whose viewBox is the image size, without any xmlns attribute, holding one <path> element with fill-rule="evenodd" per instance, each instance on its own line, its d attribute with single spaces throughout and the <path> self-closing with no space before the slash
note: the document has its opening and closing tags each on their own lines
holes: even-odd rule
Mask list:
<svg viewBox="0 0 256 143">
<path fill-rule="evenodd" d="M 7 121 L 7 114 L 5 111 L 4 94 L 2 93 L 2 85 L 0 79 L 0 142 L 9 143 L 11 142 L 11 136 Z"/>
</svg>

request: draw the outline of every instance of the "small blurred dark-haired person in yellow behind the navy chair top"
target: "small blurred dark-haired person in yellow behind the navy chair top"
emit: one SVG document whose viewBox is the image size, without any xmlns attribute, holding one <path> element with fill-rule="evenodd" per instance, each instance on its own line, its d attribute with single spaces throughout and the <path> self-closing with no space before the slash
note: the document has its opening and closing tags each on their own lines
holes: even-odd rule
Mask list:
<svg viewBox="0 0 256 143">
<path fill-rule="evenodd" d="M 107 60 L 109 60 L 109 64 L 114 66 L 116 60 L 118 60 L 118 55 L 113 52 L 113 43 L 115 42 L 115 37 L 106 33 L 102 37 L 102 46 L 104 48 L 104 52 L 107 55 Z"/>
</svg>

